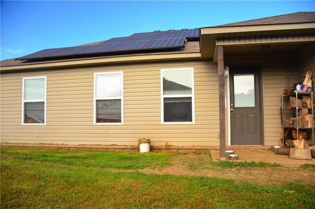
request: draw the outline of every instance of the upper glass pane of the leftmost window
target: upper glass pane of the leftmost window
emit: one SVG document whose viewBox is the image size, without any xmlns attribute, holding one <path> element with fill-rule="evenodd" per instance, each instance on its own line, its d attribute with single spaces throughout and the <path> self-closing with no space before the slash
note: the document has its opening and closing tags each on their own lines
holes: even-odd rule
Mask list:
<svg viewBox="0 0 315 209">
<path fill-rule="evenodd" d="M 31 78 L 24 80 L 24 100 L 45 99 L 45 79 Z"/>
</svg>

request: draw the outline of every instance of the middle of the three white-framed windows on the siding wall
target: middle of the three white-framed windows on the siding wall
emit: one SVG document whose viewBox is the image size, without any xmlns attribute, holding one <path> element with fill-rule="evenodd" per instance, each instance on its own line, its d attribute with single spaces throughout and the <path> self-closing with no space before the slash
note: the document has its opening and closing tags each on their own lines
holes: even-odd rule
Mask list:
<svg viewBox="0 0 315 209">
<path fill-rule="evenodd" d="M 94 73 L 94 124 L 124 124 L 124 72 Z"/>
</svg>

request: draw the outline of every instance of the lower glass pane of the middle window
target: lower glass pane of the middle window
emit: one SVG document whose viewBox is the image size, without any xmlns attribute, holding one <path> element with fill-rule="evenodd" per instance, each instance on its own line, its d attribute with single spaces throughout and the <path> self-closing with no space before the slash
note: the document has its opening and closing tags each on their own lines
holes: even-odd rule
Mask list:
<svg viewBox="0 0 315 209">
<path fill-rule="evenodd" d="M 121 123 L 121 100 L 96 100 L 96 123 Z"/>
</svg>

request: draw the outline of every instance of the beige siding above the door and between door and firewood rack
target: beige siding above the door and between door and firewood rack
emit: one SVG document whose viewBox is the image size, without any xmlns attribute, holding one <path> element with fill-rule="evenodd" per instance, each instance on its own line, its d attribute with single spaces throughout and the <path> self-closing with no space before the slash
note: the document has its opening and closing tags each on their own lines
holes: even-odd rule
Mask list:
<svg viewBox="0 0 315 209">
<path fill-rule="evenodd" d="M 288 83 L 297 81 L 297 62 L 292 54 L 234 55 L 225 57 L 225 65 L 260 65 L 262 67 L 264 145 L 278 145 L 281 135 L 282 95 Z M 290 71 L 290 73 L 289 73 Z"/>
</svg>

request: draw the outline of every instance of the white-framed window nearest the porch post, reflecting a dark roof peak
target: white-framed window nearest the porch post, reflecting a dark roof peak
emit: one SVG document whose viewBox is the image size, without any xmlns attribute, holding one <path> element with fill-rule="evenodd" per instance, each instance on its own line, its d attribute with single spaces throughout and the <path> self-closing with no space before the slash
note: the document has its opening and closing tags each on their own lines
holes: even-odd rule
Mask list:
<svg viewBox="0 0 315 209">
<path fill-rule="evenodd" d="M 193 68 L 161 69 L 161 124 L 194 124 Z"/>
</svg>

